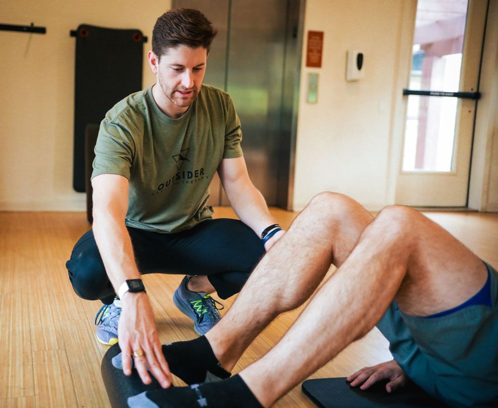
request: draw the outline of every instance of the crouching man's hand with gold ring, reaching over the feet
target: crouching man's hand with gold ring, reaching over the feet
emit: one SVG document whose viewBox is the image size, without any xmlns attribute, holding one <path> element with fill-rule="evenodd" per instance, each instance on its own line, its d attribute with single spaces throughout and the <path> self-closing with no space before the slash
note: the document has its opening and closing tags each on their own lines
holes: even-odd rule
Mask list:
<svg viewBox="0 0 498 408">
<path fill-rule="evenodd" d="M 131 358 L 133 358 L 135 369 L 143 384 L 152 382 L 148 369 L 162 388 L 168 388 L 173 379 L 161 351 L 154 313 L 147 294 L 126 292 L 121 302 L 118 340 L 122 351 L 124 374 L 131 375 Z"/>
</svg>

